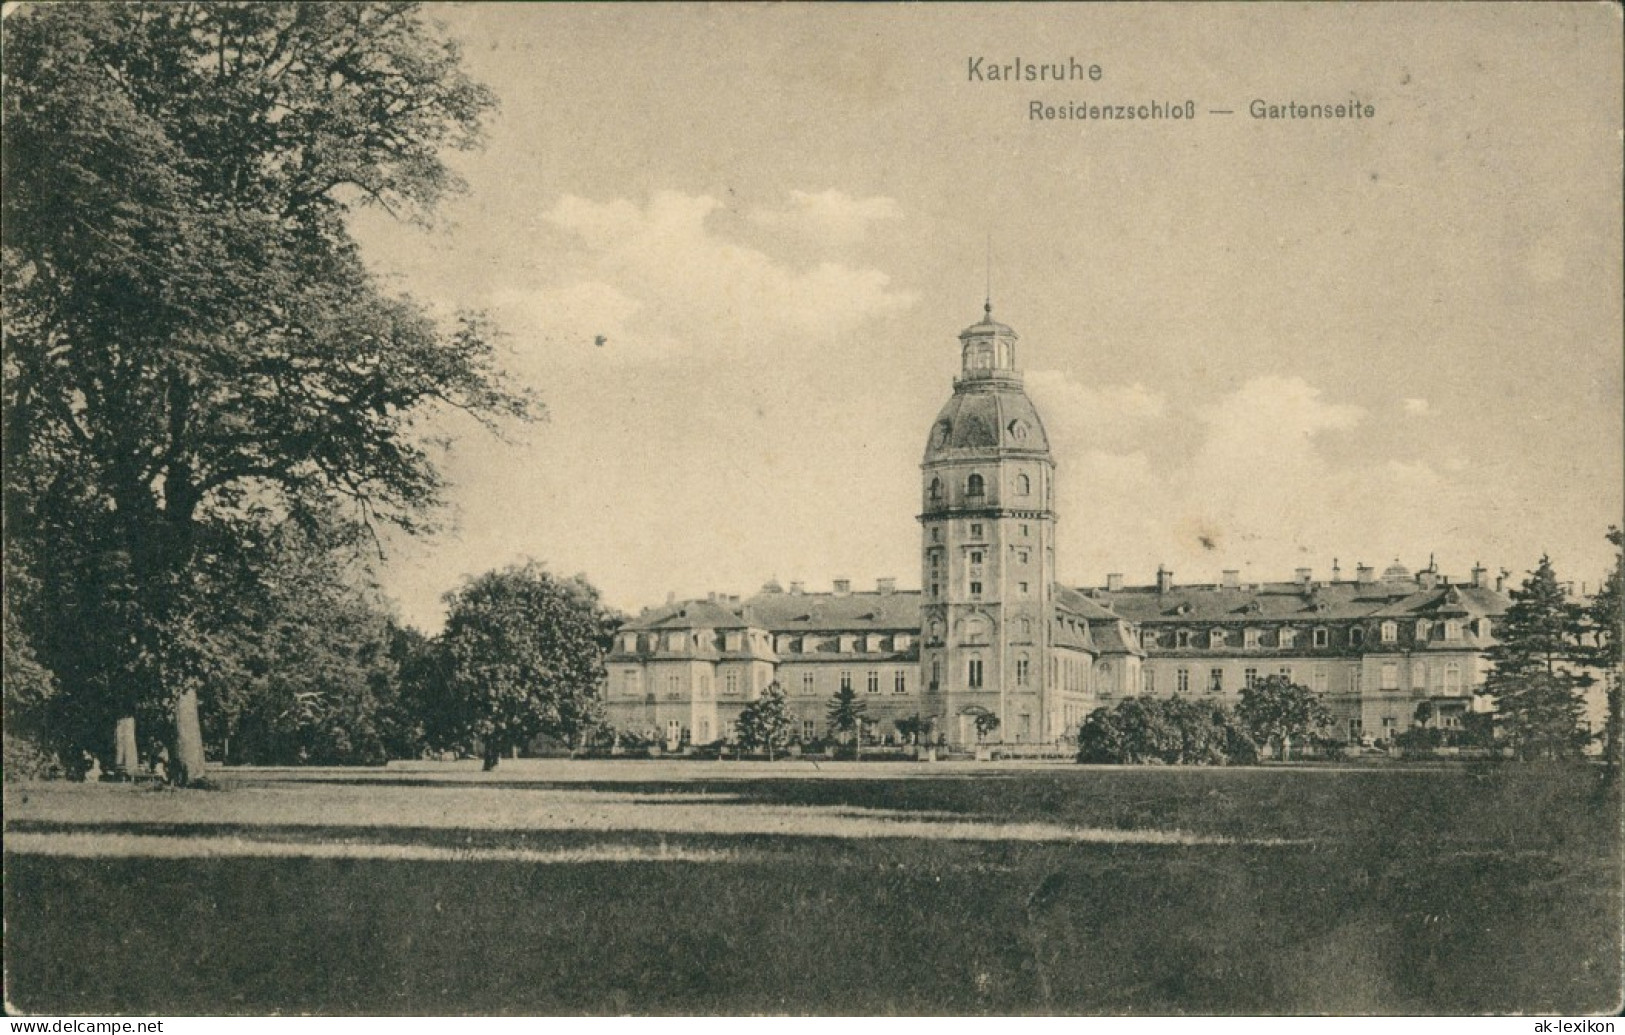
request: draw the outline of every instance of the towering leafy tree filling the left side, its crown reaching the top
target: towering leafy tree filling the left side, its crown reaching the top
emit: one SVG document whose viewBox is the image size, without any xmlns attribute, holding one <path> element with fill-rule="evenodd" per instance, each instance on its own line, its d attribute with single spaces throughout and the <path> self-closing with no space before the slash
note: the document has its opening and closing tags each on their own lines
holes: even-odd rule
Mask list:
<svg viewBox="0 0 1625 1035">
<path fill-rule="evenodd" d="M 281 522 L 422 530 L 422 418 L 531 411 L 479 320 L 384 292 L 346 224 L 427 219 L 492 97 L 413 3 L 3 26 L 8 546 L 55 587 L 24 624 L 88 723 L 172 710 L 184 782 L 210 569 Z"/>
</svg>

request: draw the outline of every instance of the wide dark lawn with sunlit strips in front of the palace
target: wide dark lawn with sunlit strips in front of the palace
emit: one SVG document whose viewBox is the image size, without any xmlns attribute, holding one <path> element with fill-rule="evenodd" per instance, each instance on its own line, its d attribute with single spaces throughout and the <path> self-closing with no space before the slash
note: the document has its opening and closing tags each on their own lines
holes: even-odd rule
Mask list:
<svg viewBox="0 0 1625 1035">
<path fill-rule="evenodd" d="M 49 1014 L 1596 1014 L 1594 772 L 504 762 L 6 788 Z"/>
</svg>

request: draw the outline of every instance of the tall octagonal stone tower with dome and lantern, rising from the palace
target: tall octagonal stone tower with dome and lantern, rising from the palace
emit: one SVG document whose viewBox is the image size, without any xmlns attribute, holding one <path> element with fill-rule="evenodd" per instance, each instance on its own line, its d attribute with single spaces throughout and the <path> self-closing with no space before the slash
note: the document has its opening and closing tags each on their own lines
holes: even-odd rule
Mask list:
<svg viewBox="0 0 1625 1035">
<path fill-rule="evenodd" d="M 931 426 L 920 465 L 920 653 L 926 708 L 956 744 L 977 717 L 991 741 L 1045 741 L 1055 585 L 1055 460 L 1022 390 L 1017 335 L 993 318 L 959 335 L 954 395 Z M 1025 728 L 1024 728 L 1025 726 Z"/>
</svg>

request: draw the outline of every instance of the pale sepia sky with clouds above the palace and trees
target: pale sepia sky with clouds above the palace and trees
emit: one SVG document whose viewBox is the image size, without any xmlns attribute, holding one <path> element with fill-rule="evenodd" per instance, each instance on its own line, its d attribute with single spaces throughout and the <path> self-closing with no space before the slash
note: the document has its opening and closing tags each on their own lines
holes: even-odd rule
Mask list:
<svg viewBox="0 0 1625 1035">
<path fill-rule="evenodd" d="M 549 421 L 447 457 L 453 528 L 385 570 L 421 626 L 522 557 L 626 609 L 767 578 L 916 587 L 920 453 L 990 236 L 1060 465 L 1064 580 L 1607 567 L 1614 6 L 436 15 L 502 109 L 440 226 L 358 232 L 398 289 L 489 310 Z M 973 81 L 977 57 L 1100 80 Z"/>
</svg>

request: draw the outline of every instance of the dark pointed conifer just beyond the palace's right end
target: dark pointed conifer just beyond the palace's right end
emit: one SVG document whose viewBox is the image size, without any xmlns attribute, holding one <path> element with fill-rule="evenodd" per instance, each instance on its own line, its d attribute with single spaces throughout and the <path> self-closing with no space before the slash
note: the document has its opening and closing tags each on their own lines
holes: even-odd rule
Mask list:
<svg viewBox="0 0 1625 1035">
<path fill-rule="evenodd" d="M 1578 754 L 1580 720 L 1591 676 L 1576 668 L 1581 609 L 1566 600 L 1549 557 L 1511 591 L 1511 606 L 1490 647 L 1484 692 L 1495 702 L 1495 728 L 1519 759 Z"/>
</svg>

